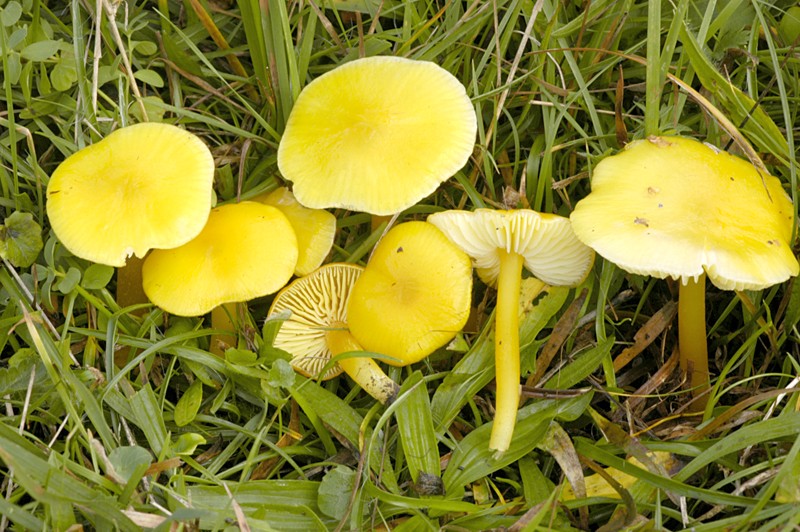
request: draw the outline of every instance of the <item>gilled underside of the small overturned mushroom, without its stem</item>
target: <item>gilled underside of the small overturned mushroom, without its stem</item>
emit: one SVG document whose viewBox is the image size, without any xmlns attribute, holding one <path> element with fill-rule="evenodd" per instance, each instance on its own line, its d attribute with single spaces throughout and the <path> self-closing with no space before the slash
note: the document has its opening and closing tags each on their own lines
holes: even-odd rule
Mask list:
<svg viewBox="0 0 800 532">
<path fill-rule="evenodd" d="M 342 372 L 336 364 L 319 375 L 333 356 L 326 332 L 346 327 L 347 302 L 363 271 L 356 264 L 326 264 L 295 279 L 275 296 L 269 313 L 289 310 L 291 316 L 281 325 L 272 345 L 292 355 L 291 364 L 298 373 L 327 380 Z"/>
</svg>

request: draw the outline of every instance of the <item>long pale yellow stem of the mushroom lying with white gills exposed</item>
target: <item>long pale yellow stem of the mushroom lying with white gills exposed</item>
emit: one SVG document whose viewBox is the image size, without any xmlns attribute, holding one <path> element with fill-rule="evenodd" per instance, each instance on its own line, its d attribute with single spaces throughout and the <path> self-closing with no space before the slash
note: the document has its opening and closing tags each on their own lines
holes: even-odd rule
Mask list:
<svg viewBox="0 0 800 532">
<path fill-rule="evenodd" d="M 494 360 L 497 399 L 489 449 L 502 455 L 511 444 L 519 409 L 519 291 L 522 256 L 500 250 L 497 278 Z"/>
</svg>

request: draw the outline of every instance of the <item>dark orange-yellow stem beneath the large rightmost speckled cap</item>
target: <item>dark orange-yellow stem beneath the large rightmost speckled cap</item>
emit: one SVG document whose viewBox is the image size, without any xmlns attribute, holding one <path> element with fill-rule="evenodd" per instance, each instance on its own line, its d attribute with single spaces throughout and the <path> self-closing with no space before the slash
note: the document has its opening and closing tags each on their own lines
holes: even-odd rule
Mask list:
<svg viewBox="0 0 800 532">
<path fill-rule="evenodd" d="M 708 389 L 706 341 L 706 276 L 682 284 L 678 293 L 678 345 L 681 369 L 688 374 L 692 394 Z M 702 409 L 702 406 L 700 406 Z"/>
</svg>

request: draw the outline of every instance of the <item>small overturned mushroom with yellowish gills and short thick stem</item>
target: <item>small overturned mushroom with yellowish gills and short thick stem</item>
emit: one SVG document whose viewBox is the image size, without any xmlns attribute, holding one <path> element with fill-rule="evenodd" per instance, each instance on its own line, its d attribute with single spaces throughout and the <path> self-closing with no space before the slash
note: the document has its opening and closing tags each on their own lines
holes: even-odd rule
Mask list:
<svg viewBox="0 0 800 532">
<path fill-rule="evenodd" d="M 344 370 L 372 397 L 387 404 L 399 387 L 371 358 L 345 357 L 329 366 L 336 355 L 363 350 L 347 325 L 347 303 L 363 271 L 355 264 L 326 264 L 281 290 L 269 313 L 288 310 L 291 315 L 273 345 L 292 355 L 291 364 L 299 373 L 324 380 Z M 321 374 L 325 367 L 329 369 Z"/>
</svg>

